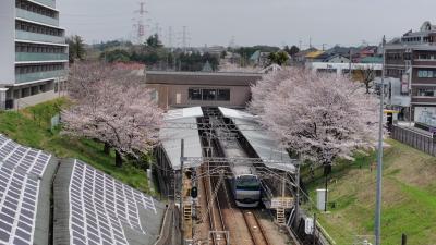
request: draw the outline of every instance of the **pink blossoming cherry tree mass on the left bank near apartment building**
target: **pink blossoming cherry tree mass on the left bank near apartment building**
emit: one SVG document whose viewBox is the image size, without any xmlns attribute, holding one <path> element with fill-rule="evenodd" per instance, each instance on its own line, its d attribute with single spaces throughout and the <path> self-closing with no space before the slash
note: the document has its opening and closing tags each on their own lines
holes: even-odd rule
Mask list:
<svg viewBox="0 0 436 245">
<path fill-rule="evenodd" d="M 158 142 L 162 111 L 132 70 L 104 63 L 77 63 L 71 69 L 69 94 L 74 106 L 63 111 L 64 132 L 105 143 L 122 157 L 138 157 Z"/>
</svg>

